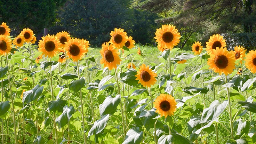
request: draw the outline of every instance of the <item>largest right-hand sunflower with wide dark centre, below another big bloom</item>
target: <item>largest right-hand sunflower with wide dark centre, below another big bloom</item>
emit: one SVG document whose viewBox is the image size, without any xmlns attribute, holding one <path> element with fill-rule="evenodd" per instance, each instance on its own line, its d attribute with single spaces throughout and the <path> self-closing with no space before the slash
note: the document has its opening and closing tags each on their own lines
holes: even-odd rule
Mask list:
<svg viewBox="0 0 256 144">
<path fill-rule="evenodd" d="M 213 69 L 214 72 L 220 75 L 222 72 L 225 75 L 233 72 L 233 69 L 235 69 L 234 55 L 228 52 L 226 47 L 217 47 L 216 50 L 212 49 L 211 53 L 207 61 L 207 64 L 210 66 L 209 69 Z"/>
</svg>

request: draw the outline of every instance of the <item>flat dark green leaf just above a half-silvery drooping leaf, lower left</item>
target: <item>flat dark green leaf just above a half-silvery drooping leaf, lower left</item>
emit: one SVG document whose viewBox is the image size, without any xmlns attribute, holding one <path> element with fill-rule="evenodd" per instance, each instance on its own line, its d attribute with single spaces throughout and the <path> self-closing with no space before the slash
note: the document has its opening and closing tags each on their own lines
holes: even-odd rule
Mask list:
<svg viewBox="0 0 256 144">
<path fill-rule="evenodd" d="M 63 112 L 63 107 L 67 105 L 66 100 L 55 100 L 55 101 L 49 101 L 48 108 L 50 111 L 56 113 L 56 111 Z"/>
</svg>

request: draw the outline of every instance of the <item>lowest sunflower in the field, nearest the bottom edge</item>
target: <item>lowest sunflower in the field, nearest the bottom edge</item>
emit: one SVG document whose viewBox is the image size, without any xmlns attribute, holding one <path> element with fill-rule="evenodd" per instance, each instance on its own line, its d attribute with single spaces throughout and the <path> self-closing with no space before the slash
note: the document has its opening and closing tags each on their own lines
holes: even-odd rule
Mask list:
<svg viewBox="0 0 256 144">
<path fill-rule="evenodd" d="M 160 94 L 156 98 L 156 100 L 153 102 L 156 108 L 156 113 L 160 114 L 161 117 L 164 116 L 165 118 L 169 115 L 174 115 L 174 112 L 176 111 L 176 101 L 172 97 L 172 95 L 169 94 Z"/>
</svg>

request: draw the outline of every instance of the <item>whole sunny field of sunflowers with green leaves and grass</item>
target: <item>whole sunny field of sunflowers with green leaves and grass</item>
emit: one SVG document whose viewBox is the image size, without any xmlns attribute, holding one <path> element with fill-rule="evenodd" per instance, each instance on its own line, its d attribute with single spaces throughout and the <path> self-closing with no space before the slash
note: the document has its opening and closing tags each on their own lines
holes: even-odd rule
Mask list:
<svg viewBox="0 0 256 144">
<path fill-rule="evenodd" d="M 3 144 L 256 143 L 256 52 L 220 34 L 182 51 L 173 25 L 157 47 L 115 28 L 98 50 L 65 31 L 38 45 L 30 28 L 10 31 L 0 25 Z"/>
</svg>

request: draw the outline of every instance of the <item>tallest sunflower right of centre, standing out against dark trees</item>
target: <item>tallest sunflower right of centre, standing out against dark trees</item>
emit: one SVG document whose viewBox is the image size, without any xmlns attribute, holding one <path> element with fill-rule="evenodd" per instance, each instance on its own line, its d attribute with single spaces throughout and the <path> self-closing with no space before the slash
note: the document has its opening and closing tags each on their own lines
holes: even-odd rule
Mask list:
<svg viewBox="0 0 256 144">
<path fill-rule="evenodd" d="M 156 29 L 156 42 L 165 49 L 172 49 L 180 43 L 180 33 L 173 25 L 162 25 L 162 28 Z"/>
</svg>

